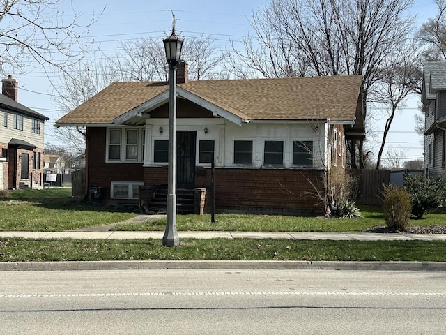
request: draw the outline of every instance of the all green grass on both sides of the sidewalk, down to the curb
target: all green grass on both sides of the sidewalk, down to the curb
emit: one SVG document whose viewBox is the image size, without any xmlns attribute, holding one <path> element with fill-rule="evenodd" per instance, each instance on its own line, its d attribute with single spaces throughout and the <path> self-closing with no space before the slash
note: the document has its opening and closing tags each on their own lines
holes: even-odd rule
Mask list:
<svg viewBox="0 0 446 335">
<path fill-rule="evenodd" d="M 220 214 L 178 216 L 178 230 L 355 232 L 384 225 L 380 207 L 361 207 L 363 218 Z M 0 193 L 0 230 L 56 231 L 126 221 L 129 207 L 86 204 L 70 189 Z M 446 214 L 429 214 L 412 225 L 443 225 Z M 164 230 L 165 218 L 118 225 L 121 230 Z M 446 262 L 446 241 L 309 241 L 281 239 L 181 239 L 167 248 L 160 240 L 0 239 L 1 262 L 61 260 L 347 260 Z"/>
</svg>

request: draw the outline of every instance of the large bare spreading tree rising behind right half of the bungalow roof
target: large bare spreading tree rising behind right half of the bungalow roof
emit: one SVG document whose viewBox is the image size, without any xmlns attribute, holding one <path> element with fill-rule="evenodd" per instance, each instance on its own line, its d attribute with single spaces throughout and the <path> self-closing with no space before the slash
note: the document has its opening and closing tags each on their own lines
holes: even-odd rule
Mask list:
<svg viewBox="0 0 446 335">
<path fill-rule="evenodd" d="M 233 75 L 362 75 L 364 117 L 369 92 L 383 77 L 383 61 L 413 31 L 412 0 L 271 0 L 252 15 L 252 38 L 227 65 Z M 236 61 L 243 61 L 243 71 Z M 364 167 L 364 144 L 350 142 L 352 168 Z"/>
</svg>

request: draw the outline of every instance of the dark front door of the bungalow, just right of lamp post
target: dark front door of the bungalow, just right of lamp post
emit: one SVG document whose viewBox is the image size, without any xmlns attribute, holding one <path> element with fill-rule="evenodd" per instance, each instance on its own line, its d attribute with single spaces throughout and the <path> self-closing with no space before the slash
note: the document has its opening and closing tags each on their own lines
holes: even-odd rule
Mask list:
<svg viewBox="0 0 446 335">
<path fill-rule="evenodd" d="M 196 131 L 176 132 L 176 186 L 195 186 Z"/>
</svg>

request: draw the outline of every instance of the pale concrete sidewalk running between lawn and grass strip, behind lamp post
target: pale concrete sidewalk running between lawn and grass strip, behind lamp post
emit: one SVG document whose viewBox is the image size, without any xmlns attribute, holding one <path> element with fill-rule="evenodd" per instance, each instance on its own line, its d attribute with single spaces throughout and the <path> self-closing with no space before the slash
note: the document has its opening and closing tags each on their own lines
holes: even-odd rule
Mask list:
<svg viewBox="0 0 446 335">
<path fill-rule="evenodd" d="M 162 239 L 164 232 L 0 232 L 0 238 L 26 239 Z M 446 234 L 383 234 L 371 232 L 178 232 L 180 239 L 329 239 L 334 241 L 444 241 Z"/>
</svg>

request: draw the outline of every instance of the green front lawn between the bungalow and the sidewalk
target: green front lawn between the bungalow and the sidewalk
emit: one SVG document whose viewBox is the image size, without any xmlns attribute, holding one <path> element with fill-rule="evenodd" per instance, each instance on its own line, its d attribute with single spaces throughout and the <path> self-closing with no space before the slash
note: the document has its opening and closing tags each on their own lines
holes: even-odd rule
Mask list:
<svg viewBox="0 0 446 335">
<path fill-rule="evenodd" d="M 0 231 L 58 231 L 95 227 L 128 221 L 137 216 L 136 207 L 113 207 L 87 204 L 72 198 L 69 188 L 8 191 L 0 197 Z M 360 207 L 362 218 L 324 218 L 305 216 L 275 216 L 251 214 L 217 214 L 215 223 L 210 215 L 179 215 L 179 231 L 312 231 L 360 232 L 376 225 L 384 225 L 380 207 Z M 412 225 L 443 225 L 446 214 L 429 214 Z M 143 223 L 124 223 L 114 230 L 164 230 L 166 218 Z"/>
</svg>

